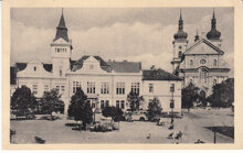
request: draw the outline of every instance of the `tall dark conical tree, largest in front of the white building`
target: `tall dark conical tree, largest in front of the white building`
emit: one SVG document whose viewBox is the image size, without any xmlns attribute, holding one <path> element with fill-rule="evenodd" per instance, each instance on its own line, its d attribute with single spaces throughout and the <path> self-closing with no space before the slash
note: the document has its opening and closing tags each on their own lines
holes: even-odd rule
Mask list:
<svg viewBox="0 0 243 153">
<path fill-rule="evenodd" d="M 74 117 L 75 121 L 83 121 L 83 127 L 93 121 L 93 111 L 87 102 L 87 96 L 81 88 L 77 88 L 75 95 L 71 98 L 71 103 L 67 110 L 68 117 Z"/>
</svg>

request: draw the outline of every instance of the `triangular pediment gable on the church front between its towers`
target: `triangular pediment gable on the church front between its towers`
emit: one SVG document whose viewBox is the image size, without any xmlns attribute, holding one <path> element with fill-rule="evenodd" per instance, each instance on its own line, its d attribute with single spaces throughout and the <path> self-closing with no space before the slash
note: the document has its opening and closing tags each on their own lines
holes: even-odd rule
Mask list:
<svg viewBox="0 0 243 153">
<path fill-rule="evenodd" d="M 209 41 L 202 39 L 190 46 L 184 55 L 223 55 L 223 51 L 210 43 Z"/>
</svg>

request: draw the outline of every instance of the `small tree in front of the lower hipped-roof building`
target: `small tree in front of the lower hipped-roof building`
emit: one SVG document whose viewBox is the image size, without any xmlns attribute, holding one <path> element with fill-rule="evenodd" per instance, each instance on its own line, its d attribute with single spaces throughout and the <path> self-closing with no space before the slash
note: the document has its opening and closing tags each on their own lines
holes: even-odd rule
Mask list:
<svg viewBox="0 0 243 153">
<path fill-rule="evenodd" d="M 151 102 L 148 103 L 147 117 L 149 121 L 154 121 L 158 114 L 162 111 L 160 101 L 158 98 L 154 98 Z"/>
</svg>

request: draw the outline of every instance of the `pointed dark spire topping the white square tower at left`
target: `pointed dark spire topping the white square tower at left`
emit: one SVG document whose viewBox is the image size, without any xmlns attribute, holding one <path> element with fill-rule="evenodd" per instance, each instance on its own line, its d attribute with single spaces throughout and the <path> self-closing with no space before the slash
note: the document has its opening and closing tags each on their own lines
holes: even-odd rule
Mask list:
<svg viewBox="0 0 243 153">
<path fill-rule="evenodd" d="M 56 28 L 55 39 L 53 41 L 56 41 L 60 37 L 62 37 L 66 42 L 68 42 L 67 28 L 66 28 L 64 15 L 63 15 L 63 8 L 62 8 L 62 14 L 61 14 L 61 19 L 60 19 L 60 22 L 59 22 L 59 26 Z"/>
</svg>

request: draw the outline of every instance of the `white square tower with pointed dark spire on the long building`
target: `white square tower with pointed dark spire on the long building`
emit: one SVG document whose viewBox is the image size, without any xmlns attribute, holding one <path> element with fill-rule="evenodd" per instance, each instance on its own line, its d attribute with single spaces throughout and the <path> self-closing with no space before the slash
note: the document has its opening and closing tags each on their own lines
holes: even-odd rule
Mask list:
<svg viewBox="0 0 243 153">
<path fill-rule="evenodd" d="M 51 43 L 53 77 L 65 77 L 65 73 L 70 68 L 72 48 L 72 41 L 67 35 L 67 28 L 65 25 L 62 10 L 60 23 L 56 28 L 56 34 Z"/>
</svg>

